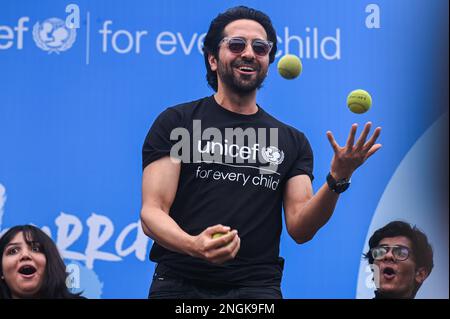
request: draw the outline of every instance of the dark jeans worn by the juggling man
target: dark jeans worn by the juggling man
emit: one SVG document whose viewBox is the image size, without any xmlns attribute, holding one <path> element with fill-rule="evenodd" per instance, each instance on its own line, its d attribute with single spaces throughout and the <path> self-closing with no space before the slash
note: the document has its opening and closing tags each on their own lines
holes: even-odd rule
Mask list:
<svg viewBox="0 0 450 319">
<path fill-rule="evenodd" d="M 191 281 L 168 273 L 158 265 L 149 299 L 282 299 L 279 286 L 236 287 Z"/>
</svg>

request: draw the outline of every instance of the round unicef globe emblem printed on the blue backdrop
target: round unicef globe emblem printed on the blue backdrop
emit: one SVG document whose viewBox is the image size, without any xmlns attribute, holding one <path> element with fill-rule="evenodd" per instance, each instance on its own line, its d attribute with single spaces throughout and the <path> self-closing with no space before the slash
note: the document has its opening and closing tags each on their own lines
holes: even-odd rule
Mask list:
<svg viewBox="0 0 450 319">
<path fill-rule="evenodd" d="M 75 28 L 68 28 L 59 18 L 50 18 L 42 24 L 37 22 L 33 27 L 33 40 L 36 45 L 48 53 L 66 51 L 75 42 L 77 32 Z"/>
</svg>

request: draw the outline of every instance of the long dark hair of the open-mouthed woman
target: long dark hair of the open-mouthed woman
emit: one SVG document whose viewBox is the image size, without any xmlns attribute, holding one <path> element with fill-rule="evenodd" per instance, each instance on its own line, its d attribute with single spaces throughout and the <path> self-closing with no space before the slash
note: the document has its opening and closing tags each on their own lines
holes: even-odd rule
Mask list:
<svg viewBox="0 0 450 319">
<path fill-rule="evenodd" d="M 47 262 L 45 276 L 37 298 L 79 298 L 79 294 L 72 294 L 66 286 L 66 266 L 58 252 L 58 248 L 42 230 L 31 225 L 20 225 L 9 229 L 0 238 L 0 275 L 3 276 L 3 253 L 6 245 L 22 232 L 28 245 L 38 243 L 41 252 L 45 255 Z M 11 291 L 5 280 L 0 280 L 0 299 L 11 298 Z"/>
</svg>

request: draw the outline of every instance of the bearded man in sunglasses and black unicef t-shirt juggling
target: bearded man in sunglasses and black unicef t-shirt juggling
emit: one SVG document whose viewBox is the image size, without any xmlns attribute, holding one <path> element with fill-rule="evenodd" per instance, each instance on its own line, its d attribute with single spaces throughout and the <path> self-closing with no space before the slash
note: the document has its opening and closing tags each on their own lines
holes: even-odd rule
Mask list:
<svg viewBox="0 0 450 319">
<path fill-rule="evenodd" d="M 147 135 L 141 221 L 158 263 L 150 298 L 281 298 L 282 206 L 290 236 L 311 240 L 353 172 L 381 147 L 381 128 L 366 142 L 370 123 L 356 142 L 353 125 L 344 147 L 328 132 L 335 155 L 313 195 L 308 139 L 256 103 L 276 42 L 258 10 L 219 14 L 203 48 L 216 93 L 168 108 Z"/>
</svg>

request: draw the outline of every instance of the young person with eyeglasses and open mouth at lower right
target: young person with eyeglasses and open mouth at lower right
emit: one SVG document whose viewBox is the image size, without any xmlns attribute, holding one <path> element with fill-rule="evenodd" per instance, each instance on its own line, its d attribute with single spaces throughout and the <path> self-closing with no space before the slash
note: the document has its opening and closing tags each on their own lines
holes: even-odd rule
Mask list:
<svg viewBox="0 0 450 319">
<path fill-rule="evenodd" d="M 433 249 L 416 227 L 394 221 L 369 240 L 365 258 L 374 265 L 375 298 L 413 299 L 433 269 Z"/>
</svg>

